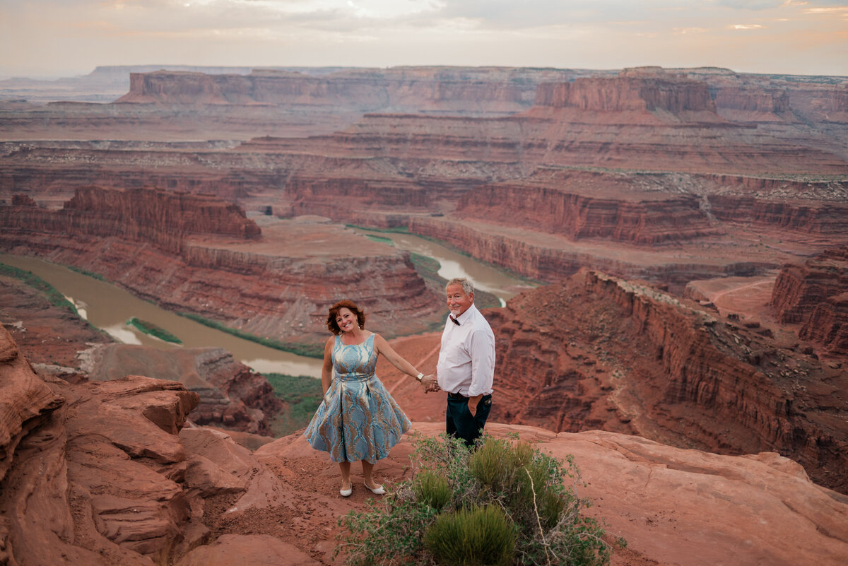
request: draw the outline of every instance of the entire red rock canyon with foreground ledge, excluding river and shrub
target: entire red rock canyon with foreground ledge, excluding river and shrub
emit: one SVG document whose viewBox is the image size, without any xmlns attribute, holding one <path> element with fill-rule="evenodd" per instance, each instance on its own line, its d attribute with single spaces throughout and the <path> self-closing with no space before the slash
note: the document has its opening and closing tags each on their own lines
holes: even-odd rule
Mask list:
<svg viewBox="0 0 848 566">
<path fill-rule="evenodd" d="M 354 298 L 430 372 L 438 282 L 349 225 L 444 242 L 538 286 L 484 309 L 487 429 L 574 454 L 591 513 L 630 541 L 614 564 L 848 558 L 848 78 L 207 70 L 137 69 L 110 103 L 0 101 L 0 250 L 299 351 Z M 367 498 L 338 499 L 301 436 L 263 436 L 288 410 L 264 377 L 222 350 L 166 356 L 4 316 L 2 370 L 31 405 L 2 409 L 16 416 L 0 420 L 14 517 L 0 552 L 338 563 L 336 520 Z M 416 431 L 438 433 L 444 396 L 383 360 L 377 373 Z M 98 403 L 126 422 L 95 441 Z M 35 447 L 57 485 L 27 479 Z M 378 473 L 408 478 L 411 450 Z M 159 495 L 92 480 L 98 466 Z M 48 500 L 50 529 L 31 519 Z"/>
</svg>

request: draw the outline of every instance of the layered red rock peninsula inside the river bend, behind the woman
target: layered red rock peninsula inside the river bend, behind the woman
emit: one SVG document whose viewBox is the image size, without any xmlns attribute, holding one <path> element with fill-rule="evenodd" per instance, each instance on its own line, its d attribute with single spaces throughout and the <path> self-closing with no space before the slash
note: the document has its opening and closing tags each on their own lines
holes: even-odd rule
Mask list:
<svg viewBox="0 0 848 566">
<path fill-rule="evenodd" d="M 254 221 L 227 203 L 194 209 L 190 197 L 166 191 L 92 187 L 80 194 L 56 212 L 0 207 L 8 227 L 0 245 L 101 274 L 166 308 L 316 352 L 326 340 L 326 308 L 343 297 L 353 294 L 387 335 L 426 329 L 438 309 L 407 252 L 338 226 L 277 222 L 257 238 Z M 126 211 L 113 206 L 114 195 L 130 199 Z M 222 210 L 237 211 L 230 216 L 235 230 L 216 215 Z"/>
</svg>

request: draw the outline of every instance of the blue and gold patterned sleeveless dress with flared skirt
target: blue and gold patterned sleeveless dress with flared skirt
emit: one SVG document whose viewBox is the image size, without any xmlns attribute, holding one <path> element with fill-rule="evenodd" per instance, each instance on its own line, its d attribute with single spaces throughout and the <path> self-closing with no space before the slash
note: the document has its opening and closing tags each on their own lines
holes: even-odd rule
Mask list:
<svg viewBox="0 0 848 566">
<path fill-rule="evenodd" d="M 330 452 L 333 462 L 375 463 L 410 430 L 410 419 L 374 375 L 374 335 L 347 346 L 336 336 L 332 347 L 333 380 L 304 436 L 315 450 Z"/>
</svg>

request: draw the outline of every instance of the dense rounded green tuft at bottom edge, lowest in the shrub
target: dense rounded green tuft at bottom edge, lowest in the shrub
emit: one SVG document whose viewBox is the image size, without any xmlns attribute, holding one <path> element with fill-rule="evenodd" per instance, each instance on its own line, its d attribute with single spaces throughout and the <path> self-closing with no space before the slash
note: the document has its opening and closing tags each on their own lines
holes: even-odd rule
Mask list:
<svg viewBox="0 0 848 566">
<path fill-rule="evenodd" d="M 424 547 L 449 566 L 505 566 L 512 563 L 516 534 L 504 510 L 490 504 L 439 515 Z"/>
</svg>

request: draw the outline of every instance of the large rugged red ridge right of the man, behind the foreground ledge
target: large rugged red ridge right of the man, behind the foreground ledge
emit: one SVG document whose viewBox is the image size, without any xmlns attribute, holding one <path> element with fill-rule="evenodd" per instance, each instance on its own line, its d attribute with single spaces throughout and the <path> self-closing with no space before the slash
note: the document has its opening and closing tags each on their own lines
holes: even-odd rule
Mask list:
<svg viewBox="0 0 848 566">
<path fill-rule="evenodd" d="M 581 285 L 583 286 L 581 288 Z M 848 378 L 695 303 L 598 273 L 488 311 L 497 419 L 553 430 L 634 432 L 723 453 L 780 452 L 848 491 Z M 826 384 L 826 385 L 825 385 Z"/>
</svg>

